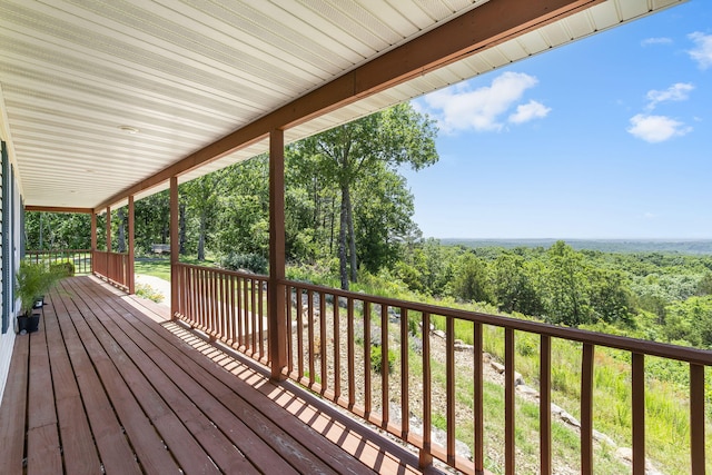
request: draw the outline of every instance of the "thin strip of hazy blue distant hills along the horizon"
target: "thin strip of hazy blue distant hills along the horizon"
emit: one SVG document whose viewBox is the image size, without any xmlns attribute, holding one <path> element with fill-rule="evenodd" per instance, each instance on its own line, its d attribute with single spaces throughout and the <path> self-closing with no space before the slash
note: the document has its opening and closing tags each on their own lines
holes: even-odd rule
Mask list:
<svg viewBox="0 0 712 475">
<path fill-rule="evenodd" d="M 552 247 L 557 240 L 565 241 L 576 250 L 589 249 L 602 253 L 674 253 L 712 255 L 712 239 L 439 239 L 444 246 L 465 247 Z"/>
</svg>

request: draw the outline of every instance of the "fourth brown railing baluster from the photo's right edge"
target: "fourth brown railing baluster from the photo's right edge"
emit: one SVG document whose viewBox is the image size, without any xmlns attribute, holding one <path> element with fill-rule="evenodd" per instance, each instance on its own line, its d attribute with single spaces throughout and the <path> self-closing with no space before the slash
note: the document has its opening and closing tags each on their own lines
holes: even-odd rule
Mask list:
<svg viewBox="0 0 712 475">
<path fill-rule="evenodd" d="M 552 339 L 542 335 L 540 345 L 538 427 L 542 475 L 552 473 Z"/>
</svg>

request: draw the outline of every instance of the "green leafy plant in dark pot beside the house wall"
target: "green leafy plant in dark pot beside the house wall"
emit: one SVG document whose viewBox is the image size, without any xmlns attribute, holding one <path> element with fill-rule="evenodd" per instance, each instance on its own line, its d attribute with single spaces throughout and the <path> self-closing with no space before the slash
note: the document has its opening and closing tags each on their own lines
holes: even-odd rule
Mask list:
<svg viewBox="0 0 712 475">
<path fill-rule="evenodd" d="M 44 294 L 66 275 L 65 269 L 52 269 L 43 263 L 20 261 L 14 285 L 16 296 L 20 299 L 19 334 L 37 331 Z"/>
</svg>

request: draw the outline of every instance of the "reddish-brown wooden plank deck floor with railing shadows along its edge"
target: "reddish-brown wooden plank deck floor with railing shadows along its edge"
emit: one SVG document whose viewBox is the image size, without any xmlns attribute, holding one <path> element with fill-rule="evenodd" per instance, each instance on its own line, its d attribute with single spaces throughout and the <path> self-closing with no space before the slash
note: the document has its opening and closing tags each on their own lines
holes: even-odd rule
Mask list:
<svg viewBox="0 0 712 475">
<path fill-rule="evenodd" d="M 0 473 L 422 473 L 416 455 L 167 314 L 65 279 L 40 330 L 16 338 Z"/>
</svg>

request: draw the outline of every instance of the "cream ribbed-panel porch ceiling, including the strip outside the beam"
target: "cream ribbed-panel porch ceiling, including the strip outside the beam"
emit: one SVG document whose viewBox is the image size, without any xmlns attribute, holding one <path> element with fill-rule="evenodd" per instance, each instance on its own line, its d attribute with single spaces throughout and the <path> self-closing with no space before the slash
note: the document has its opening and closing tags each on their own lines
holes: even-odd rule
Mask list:
<svg viewBox="0 0 712 475">
<path fill-rule="evenodd" d="M 96 208 L 267 151 L 259 133 L 209 146 L 456 19 L 523 23 L 277 123 L 286 142 L 682 1 L 545 0 L 560 19 L 526 23 L 512 0 L 0 0 L 0 135 L 26 205 Z"/>
</svg>

